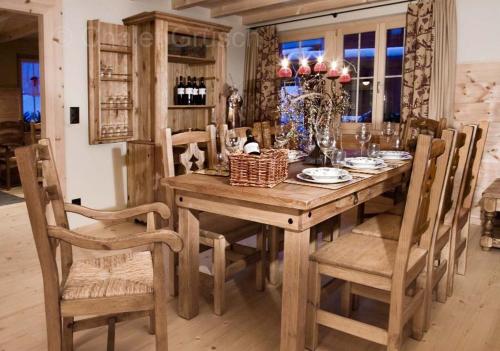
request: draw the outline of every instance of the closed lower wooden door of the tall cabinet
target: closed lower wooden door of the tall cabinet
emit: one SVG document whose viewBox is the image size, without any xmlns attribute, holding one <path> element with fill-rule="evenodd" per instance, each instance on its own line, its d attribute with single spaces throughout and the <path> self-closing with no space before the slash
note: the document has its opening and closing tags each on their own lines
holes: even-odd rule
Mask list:
<svg viewBox="0 0 500 351">
<path fill-rule="evenodd" d="M 127 143 L 127 200 L 134 207 L 155 201 L 155 146 L 151 142 Z M 141 219 L 145 219 L 141 218 Z"/>
</svg>

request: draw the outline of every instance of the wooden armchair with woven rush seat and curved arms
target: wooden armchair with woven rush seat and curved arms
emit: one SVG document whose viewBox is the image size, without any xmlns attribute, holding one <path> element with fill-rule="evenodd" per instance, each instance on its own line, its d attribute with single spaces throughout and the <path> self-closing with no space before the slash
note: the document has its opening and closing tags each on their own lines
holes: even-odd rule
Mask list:
<svg viewBox="0 0 500 351">
<path fill-rule="evenodd" d="M 122 211 L 97 211 L 67 204 L 47 139 L 16 149 L 19 173 L 42 268 L 49 351 L 73 350 L 73 333 L 108 325 L 108 350 L 114 348 L 115 323 L 150 316 L 156 349 L 167 350 L 166 250 L 182 249 L 173 231 L 156 229 L 155 213 L 168 218 L 165 204 L 153 203 Z M 46 205 L 49 205 L 46 207 Z M 46 208 L 50 212 L 46 212 Z M 95 220 L 148 216 L 144 233 L 100 238 L 71 231 L 67 212 Z M 56 260 L 60 246 L 60 269 Z M 72 246 L 89 250 L 123 250 L 152 245 L 150 251 L 122 253 L 73 262 Z M 93 316 L 74 320 L 76 316 Z"/>
</svg>

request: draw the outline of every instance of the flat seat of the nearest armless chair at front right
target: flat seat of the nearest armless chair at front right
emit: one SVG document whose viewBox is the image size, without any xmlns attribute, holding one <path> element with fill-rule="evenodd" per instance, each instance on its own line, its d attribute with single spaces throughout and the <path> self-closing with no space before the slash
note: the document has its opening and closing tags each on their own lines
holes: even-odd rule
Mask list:
<svg viewBox="0 0 500 351">
<path fill-rule="evenodd" d="M 398 242 L 394 240 L 349 233 L 320 248 L 311 259 L 320 264 L 392 278 L 397 248 Z M 413 246 L 408 271 L 425 264 L 426 256 L 427 250 Z"/>
</svg>

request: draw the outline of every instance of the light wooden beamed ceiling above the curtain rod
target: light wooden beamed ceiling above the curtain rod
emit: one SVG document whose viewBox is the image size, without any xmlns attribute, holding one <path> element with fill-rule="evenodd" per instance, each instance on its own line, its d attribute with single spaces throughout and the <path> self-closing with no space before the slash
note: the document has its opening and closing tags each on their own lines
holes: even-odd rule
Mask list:
<svg viewBox="0 0 500 351">
<path fill-rule="evenodd" d="M 382 1 L 387 0 L 172 0 L 172 7 L 202 6 L 210 9 L 213 18 L 238 15 L 243 24 L 254 25 Z"/>
</svg>

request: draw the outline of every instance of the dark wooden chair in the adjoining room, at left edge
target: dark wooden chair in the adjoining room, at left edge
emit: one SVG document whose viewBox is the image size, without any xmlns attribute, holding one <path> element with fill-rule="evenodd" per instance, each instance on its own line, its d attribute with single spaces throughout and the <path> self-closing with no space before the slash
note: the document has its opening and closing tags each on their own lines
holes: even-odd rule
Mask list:
<svg viewBox="0 0 500 351">
<path fill-rule="evenodd" d="M 5 188 L 12 187 L 12 171 L 17 168 L 14 150 L 24 145 L 22 121 L 0 122 L 0 167 L 4 170 Z"/>
</svg>

